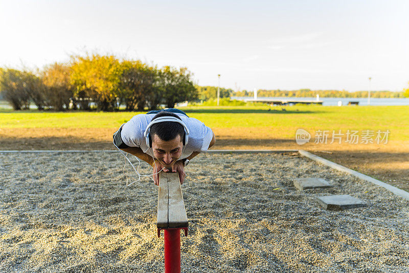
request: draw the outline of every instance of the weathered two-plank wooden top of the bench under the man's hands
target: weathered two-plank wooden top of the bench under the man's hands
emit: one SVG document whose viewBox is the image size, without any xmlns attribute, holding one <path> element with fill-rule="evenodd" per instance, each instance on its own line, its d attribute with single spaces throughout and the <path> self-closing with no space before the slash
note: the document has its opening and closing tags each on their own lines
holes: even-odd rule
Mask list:
<svg viewBox="0 0 409 273">
<path fill-rule="evenodd" d="M 162 229 L 188 227 L 188 217 L 177 172 L 160 173 L 156 225 Z"/>
</svg>

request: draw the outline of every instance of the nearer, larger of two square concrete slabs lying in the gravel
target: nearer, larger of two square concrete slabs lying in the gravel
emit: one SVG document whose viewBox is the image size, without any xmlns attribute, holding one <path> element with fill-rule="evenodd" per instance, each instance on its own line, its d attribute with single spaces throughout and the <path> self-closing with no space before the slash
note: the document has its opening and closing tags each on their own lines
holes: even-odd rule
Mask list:
<svg viewBox="0 0 409 273">
<path fill-rule="evenodd" d="M 363 201 L 349 194 L 317 196 L 317 201 L 324 209 L 329 211 L 341 211 L 366 206 Z"/>
</svg>

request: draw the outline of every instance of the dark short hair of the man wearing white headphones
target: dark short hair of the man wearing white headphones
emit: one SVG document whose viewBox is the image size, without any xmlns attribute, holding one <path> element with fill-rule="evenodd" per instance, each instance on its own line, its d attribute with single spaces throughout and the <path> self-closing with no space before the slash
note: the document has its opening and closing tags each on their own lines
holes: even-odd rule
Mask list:
<svg viewBox="0 0 409 273">
<path fill-rule="evenodd" d="M 157 113 L 152 120 L 159 118 L 159 117 L 175 117 L 181 120 L 175 113 L 162 111 Z M 183 125 L 173 121 L 164 121 L 155 123 L 150 127 L 150 137 L 151 141 L 153 141 L 153 136 L 156 134 L 162 141 L 170 141 L 174 140 L 177 135 L 180 135 L 180 141 L 183 141 L 185 136 L 185 128 Z"/>
</svg>

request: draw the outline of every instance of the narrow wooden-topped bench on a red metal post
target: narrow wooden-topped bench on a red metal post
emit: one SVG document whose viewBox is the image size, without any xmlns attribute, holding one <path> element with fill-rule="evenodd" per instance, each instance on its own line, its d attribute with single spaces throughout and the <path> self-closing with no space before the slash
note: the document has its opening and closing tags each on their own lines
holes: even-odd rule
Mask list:
<svg viewBox="0 0 409 273">
<path fill-rule="evenodd" d="M 180 230 L 188 235 L 188 217 L 177 172 L 160 172 L 157 237 L 164 230 L 165 273 L 180 273 Z"/>
</svg>

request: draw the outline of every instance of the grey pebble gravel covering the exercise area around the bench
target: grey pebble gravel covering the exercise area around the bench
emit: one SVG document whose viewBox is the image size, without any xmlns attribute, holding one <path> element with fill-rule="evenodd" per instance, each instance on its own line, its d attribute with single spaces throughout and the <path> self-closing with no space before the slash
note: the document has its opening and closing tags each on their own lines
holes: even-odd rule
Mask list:
<svg viewBox="0 0 409 273">
<path fill-rule="evenodd" d="M 119 153 L 0 154 L 0 271 L 163 271 L 157 187 L 126 187 L 122 167 Z M 311 176 L 335 187 L 292 186 Z M 409 201 L 308 158 L 200 154 L 182 191 L 183 272 L 409 272 Z M 315 202 L 331 194 L 367 207 Z"/>
</svg>

